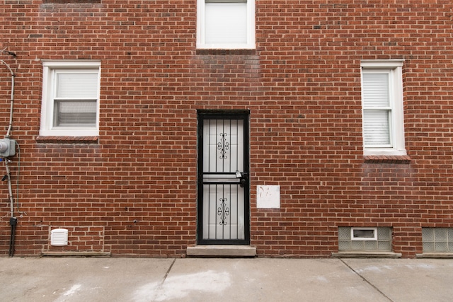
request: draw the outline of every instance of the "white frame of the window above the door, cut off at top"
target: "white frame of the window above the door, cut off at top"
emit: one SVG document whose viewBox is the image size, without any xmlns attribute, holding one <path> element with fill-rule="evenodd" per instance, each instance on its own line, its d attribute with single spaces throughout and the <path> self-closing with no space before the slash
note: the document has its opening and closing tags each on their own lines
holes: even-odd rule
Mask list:
<svg viewBox="0 0 453 302">
<path fill-rule="evenodd" d="M 240 2 L 240 0 L 210 0 L 211 2 Z M 247 3 L 247 42 L 246 43 L 219 43 L 208 44 L 206 42 L 206 0 L 197 0 L 197 48 L 198 49 L 222 49 L 243 50 L 256 48 L 255 43 L 255 0 L 246 0 Z"/>
</svg>

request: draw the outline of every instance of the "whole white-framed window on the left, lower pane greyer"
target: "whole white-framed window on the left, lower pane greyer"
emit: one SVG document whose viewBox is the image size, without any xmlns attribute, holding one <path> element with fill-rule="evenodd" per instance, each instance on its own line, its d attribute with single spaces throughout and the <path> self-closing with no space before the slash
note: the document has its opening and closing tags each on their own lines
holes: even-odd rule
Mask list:
<svg viewBox="0 0 453 302">
<path fill-rule="evenodd" d="M 100 62 L 42 63 L 42 136 L 98 135 Z"/>
</svg>

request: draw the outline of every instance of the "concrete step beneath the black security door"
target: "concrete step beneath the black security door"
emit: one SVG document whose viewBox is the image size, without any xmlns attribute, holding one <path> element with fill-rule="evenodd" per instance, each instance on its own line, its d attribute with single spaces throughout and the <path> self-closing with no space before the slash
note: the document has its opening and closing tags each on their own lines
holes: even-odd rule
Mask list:
<svg viewBox="0 0 453 302">
<path fill-rule="evenodd" d="M 195 245 L 187 248 L 189 257 L 256 257 L 250 245 Z"/>
</svg>

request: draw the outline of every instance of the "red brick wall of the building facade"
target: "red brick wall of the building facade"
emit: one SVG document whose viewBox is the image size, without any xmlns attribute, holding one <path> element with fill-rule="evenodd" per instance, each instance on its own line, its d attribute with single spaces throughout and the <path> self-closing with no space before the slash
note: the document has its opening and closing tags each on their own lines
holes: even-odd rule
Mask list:
<svg viewBox="0 0 453 302">
<path fill-rule="evenodd" d="M 196 243 L 197 109 L 251 110 L 260 256 L 326 257 L 338 226 L 391 226 L 394 251 L 414 257 L 421 227 L 453 227 L 449 0 L 256 0 L 247 51 L 196 50 L 196 0 L 44 2 L 0 4 L 0 50 L 17 55 L 0 54 L 16 74 L 16 255 L 185 255 Z M 43 59 L 101 60 L 97 138 L 39 137 Z M 405 60 L 410 162 L 364 160 L 362 59 Z M 1 66 L 5 131 L 9 81 Z M 257 185 L 280 185 L 281 209 L 256 209 Z M 6 182 L 0 196 L 7 255 Z M 71 230 L 67 247 L 50 248 L 57 227 Z"/>
</svg>

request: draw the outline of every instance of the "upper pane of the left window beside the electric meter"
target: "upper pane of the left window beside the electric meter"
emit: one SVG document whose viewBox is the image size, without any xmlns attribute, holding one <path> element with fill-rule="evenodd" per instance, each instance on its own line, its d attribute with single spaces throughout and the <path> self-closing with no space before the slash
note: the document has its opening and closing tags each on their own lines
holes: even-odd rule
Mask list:
<svg viewBox="0 0 453 302">
<path fill-rule="evenodd" d="M 98 74 L 57 72 L 57 98 L 97 98 Z"/>
</svg>

